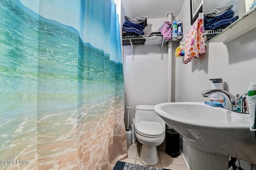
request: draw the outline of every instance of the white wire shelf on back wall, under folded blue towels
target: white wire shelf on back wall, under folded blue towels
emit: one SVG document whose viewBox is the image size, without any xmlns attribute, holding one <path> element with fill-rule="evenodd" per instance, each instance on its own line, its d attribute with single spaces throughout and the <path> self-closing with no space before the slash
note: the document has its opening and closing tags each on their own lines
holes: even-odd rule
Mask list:
<svg viewBox="0 0 256 170">
<path fill-rule="evenodd" d="M 162 45 L 168 41 L 172 43 L 179 43 L 182 39 L 183 33 L 179 33 L 174 37 L 172 34 L 152 34 L 152 35 L 139 35 L 139 36 L 125 36 L 122 37 L 122 45 Z"/>
</svg>

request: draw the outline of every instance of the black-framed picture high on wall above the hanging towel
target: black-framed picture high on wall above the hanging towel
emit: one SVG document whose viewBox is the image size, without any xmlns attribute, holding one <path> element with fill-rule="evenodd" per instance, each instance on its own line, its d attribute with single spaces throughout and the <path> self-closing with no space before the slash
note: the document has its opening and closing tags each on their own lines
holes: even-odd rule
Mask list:
<svg viewBox="0 0 256 170">
<path fill-rule="evenodd" d="M 190 0 L 190 20 L 191 25 L 198 18 L 198 14 L 203 12 L 203 1 L 202 0 Z"/>
</svg>

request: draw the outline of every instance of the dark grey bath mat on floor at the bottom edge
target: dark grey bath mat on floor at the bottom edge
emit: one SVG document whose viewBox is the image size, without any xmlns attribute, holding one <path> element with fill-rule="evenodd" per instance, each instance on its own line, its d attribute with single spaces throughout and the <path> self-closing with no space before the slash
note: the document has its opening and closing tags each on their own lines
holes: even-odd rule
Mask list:
<svg viewBox="0 0 256 170">
<path fill-rule="evenodd" d="M 165 168 L 156 168 L 146 165 L 136 165 L 127 162 L 117 161 L 113 170 L 170 170 Z"/>
</svg>

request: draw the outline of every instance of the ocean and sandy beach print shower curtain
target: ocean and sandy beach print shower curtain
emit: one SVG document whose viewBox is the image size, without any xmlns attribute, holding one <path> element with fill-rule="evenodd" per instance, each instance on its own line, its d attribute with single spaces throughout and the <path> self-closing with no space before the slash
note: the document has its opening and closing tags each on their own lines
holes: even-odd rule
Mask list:
<svg viewBox="0 0 256 170">
<path fill-rule="evenodd" d="M 0 0 L 0 169 L 113 169 L 127 156 L 116 6 Z"/>
</svg>

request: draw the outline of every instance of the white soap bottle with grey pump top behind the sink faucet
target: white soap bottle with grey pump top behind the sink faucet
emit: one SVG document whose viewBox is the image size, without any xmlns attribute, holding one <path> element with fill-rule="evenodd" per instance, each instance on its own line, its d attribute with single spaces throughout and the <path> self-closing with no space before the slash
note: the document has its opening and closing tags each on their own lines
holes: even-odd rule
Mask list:
<svg viewBox="0 0 256 170">
<path fill-rule="evenodd" d="M 212 81 L 212 89 L 223 90 L 222 78 L 212 78 L 209 79 Z M 211 94 L 211 101 L 223 102 L 224 96 L 218 93 Z"/>
</svg>

